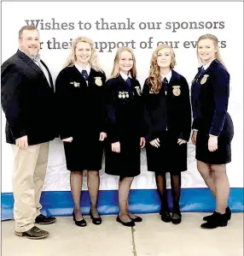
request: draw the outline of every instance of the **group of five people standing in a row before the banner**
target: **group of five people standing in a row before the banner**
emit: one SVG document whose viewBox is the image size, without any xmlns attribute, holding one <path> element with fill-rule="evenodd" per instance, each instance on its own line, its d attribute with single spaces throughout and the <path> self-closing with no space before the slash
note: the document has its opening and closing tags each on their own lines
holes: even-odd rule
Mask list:
<svg viewBox="0 0 244 256">
<path fill-rule="evenodd" d="M 187 80 L 173 69 L 176 57 L 169 45 L 159 45 L 153 52 L 149 75 L 141 88 L 131 48 L 118 49 L 107 79 L 94 43 L 78 37 L 73 40 L 54 90 L 49 69 L 38 55 L 38 30 L 22 27 L 19 41 L 17 53 L 2 65 L 6 136 L 15 152 L 15 235 L 44 238 L 49 233 L 38 229 L 35 223 L 55 222 L 55 217 L 40 213 L 39 199 L 49 141 L 56 136 L 63 141 L 67 170 L 71 171 L 76 225 L 87 224 L 80 209 L 84 170 L 92 223 L 102 223 L 96 206 L 103 149 L 105 172 L 119 176 L 117 222 L 129 227 L 142 222 L 142 217 L 129 211 L 128 199 L 131 182 L 140 174 L 143 147 L 148 170 L 155 173 L 161 220 L 181 223 L 181 172 L 187 170 L 191 129 L 197 168 L 216 199 L 216 211 L 204 218 L 206 223 L 201 228 L 227 225 L 231 211 L 225 164 L 231 161 L 234 130 L 227 113 L 229 73 L 219 56 L 215 36 L 206 34 L 197 42 L 197 57 L 202 65 L 192 82 L 191 100 Z M 172 213 L 166 196 L 166 172 L 171 175 Z"/>
</svg>

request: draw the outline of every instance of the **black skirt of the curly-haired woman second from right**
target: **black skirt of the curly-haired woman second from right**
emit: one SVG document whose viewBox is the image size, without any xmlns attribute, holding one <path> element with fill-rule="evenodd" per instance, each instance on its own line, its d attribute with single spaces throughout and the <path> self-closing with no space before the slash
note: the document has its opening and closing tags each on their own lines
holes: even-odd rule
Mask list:
<svg viewBox="0 0 244 256">
<path fill-rule="evenodd" d="M 187 170 L 187 143 L 178 145 L 178 136 L 170 131 L 160 135 L 160 147 L 146 145 L 148 170 L 164 174 L 179 174 Z"/>
</svg>

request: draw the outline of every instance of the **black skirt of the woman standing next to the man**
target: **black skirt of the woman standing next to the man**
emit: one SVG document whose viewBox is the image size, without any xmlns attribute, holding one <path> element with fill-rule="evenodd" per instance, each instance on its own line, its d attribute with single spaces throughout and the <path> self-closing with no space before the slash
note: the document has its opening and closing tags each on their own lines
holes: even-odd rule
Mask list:
<svg viewBox="0 0 244 256">
<path fill-rule="evenodd" d="M 73 137 L 72 142 L 64 142 L 67 170 L 101 170 L 103 141 L 97 138 Z"/>
</svg>

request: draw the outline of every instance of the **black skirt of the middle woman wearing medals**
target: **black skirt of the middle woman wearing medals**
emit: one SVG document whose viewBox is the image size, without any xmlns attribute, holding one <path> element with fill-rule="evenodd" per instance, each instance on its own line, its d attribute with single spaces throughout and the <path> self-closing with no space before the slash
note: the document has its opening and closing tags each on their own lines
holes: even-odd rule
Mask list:
<svg viewBox="0 0 244 256">
<path fill-rule="evenodd" d="M 112 152 L 111 143 L 105 149 L 105 173 L 113 176 L 134 177 L 141 172 L 140 138 L 120 139 L 120 152 Z"/>
</svg>

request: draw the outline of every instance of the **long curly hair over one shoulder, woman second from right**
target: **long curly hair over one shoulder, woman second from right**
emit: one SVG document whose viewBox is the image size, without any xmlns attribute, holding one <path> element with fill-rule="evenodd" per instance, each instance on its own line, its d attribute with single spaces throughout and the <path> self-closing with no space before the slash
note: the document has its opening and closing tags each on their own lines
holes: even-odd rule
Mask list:
<svg viewBox="0 0 244 256">
<path fill-rule="evenodd" d="M 162 49 L 170 49 L 171 52 L 171 65 L 170 68 L 174 68 L 176 65 L 176 56 L 171 48 L 170 45 L 159 45 L 156 50 L 153 52 L 152 58 L 151 58 L 151 64 L 150 64 L 150 71 L 148 76 L 148 82 L 151 85 L 151 90 L 153 92 L 160 92 L 160 89 L 162 87 L 162 80 L 161 80 L 161 74 L 160 74 L 160 66 L 157 63 L 157 58 L 159 51 Z"/>
</svg>

